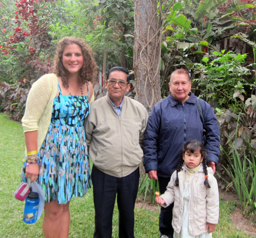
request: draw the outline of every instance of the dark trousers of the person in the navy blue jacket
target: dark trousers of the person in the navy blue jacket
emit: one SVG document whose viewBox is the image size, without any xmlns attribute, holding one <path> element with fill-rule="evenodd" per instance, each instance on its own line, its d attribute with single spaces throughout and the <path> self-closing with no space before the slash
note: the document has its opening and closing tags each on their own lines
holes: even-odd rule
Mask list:
<svg viewBox="0 0 256 238">
<path fill-rule="evenodd" d="M 170 178 L 159 177 L 158 176 L 158 184 L 160 193 L 163 194 L 166 192 L 166 187 L 170 182 Z M 159 215 L 159 231 L 160 234 L 166 235 L 168 237 L 174 236 L 174 228 L 172 228 L 172 209 L 174 208 L 174 203 L 171 203 L 170 206 L 164 208 L 161 207 L 160 215 Z"/>
</svg>

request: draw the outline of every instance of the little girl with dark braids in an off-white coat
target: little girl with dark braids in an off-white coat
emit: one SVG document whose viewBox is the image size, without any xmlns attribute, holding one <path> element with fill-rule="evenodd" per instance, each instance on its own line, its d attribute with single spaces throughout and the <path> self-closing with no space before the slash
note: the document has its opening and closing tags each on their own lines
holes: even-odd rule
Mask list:
<svg viewBox="0 0 256 238">
<path fill-rule="evenodd" d="M 174 238 L 209 238 L 218 223 L 218 185 L 207 167 L 202 143 L 188 142 L 166 192 L 155 201 L 163 207 L 174 202 Z"/>
</svg>

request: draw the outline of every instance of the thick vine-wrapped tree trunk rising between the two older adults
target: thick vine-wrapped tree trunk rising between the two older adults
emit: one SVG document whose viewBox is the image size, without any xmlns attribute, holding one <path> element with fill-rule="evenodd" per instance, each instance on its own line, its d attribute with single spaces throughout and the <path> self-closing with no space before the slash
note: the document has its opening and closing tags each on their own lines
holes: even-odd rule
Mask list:
<svg viewBox="0 0 256 238">
<path fill-rule="evenodd" d="M 161 39 L 156 4 L 156 0 L 134 0 L 133 67 L 136 95 L 148 112 L 162 99 L 159 71 Z"/>
</svg>

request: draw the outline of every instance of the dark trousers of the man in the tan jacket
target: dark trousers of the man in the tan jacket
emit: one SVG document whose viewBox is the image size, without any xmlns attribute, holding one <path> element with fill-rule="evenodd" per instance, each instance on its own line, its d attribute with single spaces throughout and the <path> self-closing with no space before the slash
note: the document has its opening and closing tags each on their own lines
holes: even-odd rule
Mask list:
<svg viewBox="0 0 256 238">
<path fill-rule="evenodd" d="M 139 187 L 139 168 L 125 177 L 114 177 L 92 168 L 95 209 L 94 238 L 112 237 L 112 217 L 117 195 L 119 237 L 134 238 L 134 206 Z"/>
</svg>

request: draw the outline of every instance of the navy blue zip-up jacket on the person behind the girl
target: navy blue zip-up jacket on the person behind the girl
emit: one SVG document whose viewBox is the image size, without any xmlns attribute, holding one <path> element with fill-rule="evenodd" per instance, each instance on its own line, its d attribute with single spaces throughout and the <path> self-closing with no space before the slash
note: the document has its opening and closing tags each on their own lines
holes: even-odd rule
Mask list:
<svg viewBox="0 0 256 238">
<path fill-rule="evenodd" d="M 201 100 L 207 130 L 207 161 L 218 163 L 220 128 L 212 107 Z M 185 143 L 203 139 L 203 124 L 196 105 L 196 96 L 180 103 L 169 95 L 155 104 L 147 122 L 143 152 L 146 173 L 158 171 L 160 177 L 171 177 L 179 164 L 180 151 Z"/>
</svg>

